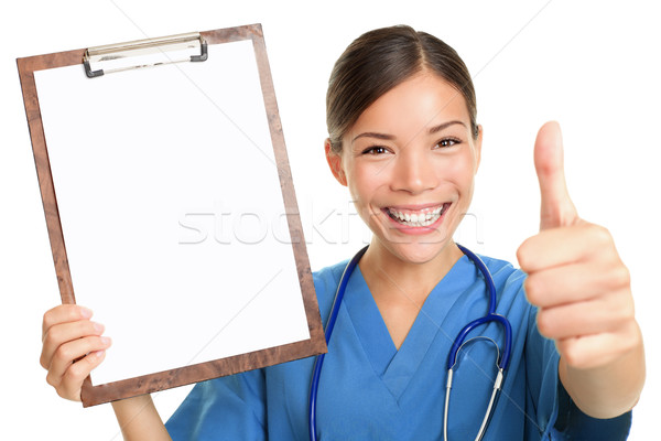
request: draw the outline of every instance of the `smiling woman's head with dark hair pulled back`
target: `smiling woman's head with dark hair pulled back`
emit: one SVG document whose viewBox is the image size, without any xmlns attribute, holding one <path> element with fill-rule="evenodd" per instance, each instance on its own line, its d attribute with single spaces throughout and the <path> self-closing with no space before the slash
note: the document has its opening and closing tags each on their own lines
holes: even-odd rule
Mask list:
<svg viewBox="0 0 661 441">
<path fill-rule="evenodd" d="M 444 268 L 462 256 L 456 247 L 440 250 L 473 196 L 476 116 L 466 65 L 427 33 L 373 30 L 336 62 L 326 95 L 328 163 L 376 237 L 388 237 L 372 241 L 365 261 L 379 247 L 404 260 L 443 260 Z"/>
</svg>

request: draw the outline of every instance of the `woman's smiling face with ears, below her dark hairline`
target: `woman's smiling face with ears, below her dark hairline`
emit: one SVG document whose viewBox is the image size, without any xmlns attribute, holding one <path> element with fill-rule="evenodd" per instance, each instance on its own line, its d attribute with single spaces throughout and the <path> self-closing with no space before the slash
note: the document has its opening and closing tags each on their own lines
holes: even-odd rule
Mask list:
<svg viewBox="0 0 661 441">
<path fill-rule="evenodd" d="M 479 164 L 478 139 L 460 93 L 431 73 L 377 99 L 328 163 L 373 232 L 372 246 L 423 263 L 448 250 L 467 213 Z M 448 251 L 449 252 L 449 251 Z"/>
</svg>

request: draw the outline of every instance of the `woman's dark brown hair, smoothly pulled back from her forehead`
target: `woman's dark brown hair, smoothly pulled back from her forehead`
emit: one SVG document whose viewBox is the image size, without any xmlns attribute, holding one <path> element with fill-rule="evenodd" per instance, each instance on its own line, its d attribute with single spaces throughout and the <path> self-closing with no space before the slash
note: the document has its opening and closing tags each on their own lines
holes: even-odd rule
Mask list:
<svg viewBox="0 0 661 441">
<path fill-rule="evenodd" d="M 470 131 L 477 138 L 475 89 L 459 55 L 433 35 L 397 25 L 360 35 L 335 63 L 326 94 L 326 125 L 333 150 L 342 151 L 343 136 L 365 109 L 424 69 L 462 93 L 470 116 Z"/>
</svg>

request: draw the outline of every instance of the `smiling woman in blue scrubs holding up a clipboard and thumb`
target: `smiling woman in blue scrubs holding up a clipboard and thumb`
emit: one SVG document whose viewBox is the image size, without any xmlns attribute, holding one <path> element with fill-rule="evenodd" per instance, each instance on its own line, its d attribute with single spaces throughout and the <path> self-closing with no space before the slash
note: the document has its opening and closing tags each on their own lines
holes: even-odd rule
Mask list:
<svg viewBox="0 0 661 441">
<path fill-rule="evenodd" d="M 328 346 L 317 402 L 324 439 L 443 438 L 451 346 L 488 309 L 484 277 L 452 239 L 480 162 L 475 103 L 454 50 L 407 26 L 361 35 L 334 67 L 326 158 L 373 238 L 348 279 Z M 540 130 L 535 166 L 541 230 L 518 251 L 528 276 L 484 259 L 496 312 L 512 327 L 509 369 L 485 439 L 624 439 L 644 380 L 628 272 L 608 233 L 576 214 L 556 123 Z M 345 265 L 315 275 L 323 318 Z M 110 344 L 89 316 L 75 305 L 44 316 L 42 365 L 69 399 L 79 399 L 83 379 Z M 449 439 L 478 433 L 499 358 L 491 340 L 502 346 L 502 334 L 497 323 L 481 326 L 490 340 L 459 352 Z M 149 397 L 113 408 L 127 439 L 305 439 L 313 364 L 198 384 L 167 429 Z"/>
</svg>

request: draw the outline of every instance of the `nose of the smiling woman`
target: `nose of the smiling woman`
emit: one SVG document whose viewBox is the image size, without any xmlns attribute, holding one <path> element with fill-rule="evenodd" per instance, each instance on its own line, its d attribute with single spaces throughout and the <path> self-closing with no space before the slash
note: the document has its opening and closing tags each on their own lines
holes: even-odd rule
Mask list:
<svg viewBox="0 0 661 441">
<path fill-rule="evenodd" d="M 438 185 L 434 161 L 414 146 L 402 149 L 394 158 L 392 190 L 419 194 Z"/>
</svg>

